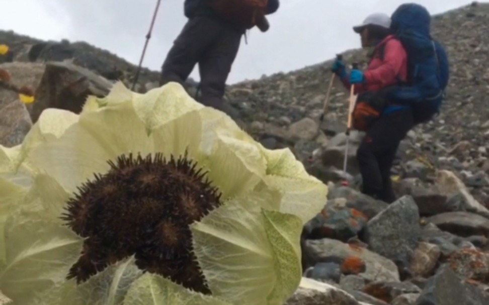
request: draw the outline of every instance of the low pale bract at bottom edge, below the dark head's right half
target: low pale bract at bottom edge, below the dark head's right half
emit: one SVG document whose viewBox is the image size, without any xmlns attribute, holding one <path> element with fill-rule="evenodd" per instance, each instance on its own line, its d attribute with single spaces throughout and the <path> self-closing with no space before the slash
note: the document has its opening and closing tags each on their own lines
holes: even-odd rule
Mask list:
<svg viewBox="0 0 489 305">
<path fill-rule="evenodd" d="M 159 275 L 146 273 L 127 291 L 124 305 L 232 305 L 177 285 Z"/>
</svg>

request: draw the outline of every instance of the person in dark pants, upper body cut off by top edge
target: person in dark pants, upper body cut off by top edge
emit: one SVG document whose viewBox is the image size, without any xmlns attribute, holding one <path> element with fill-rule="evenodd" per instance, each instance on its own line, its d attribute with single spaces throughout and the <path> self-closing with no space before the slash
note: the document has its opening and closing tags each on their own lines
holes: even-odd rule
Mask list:
<svg viewBox="0 0 489 305">
<path fill-rule="evenodd" d="M 230 106 L 223 102 L 222 97 L 241 36 L 247 27 L 227 21 L 207 3 L 207 0 L 185 0 L 184 13 L 189 20 L 161 67 L 160 85 L 170 81 L 183 84 L 198 63 L 200 103 L 229 114 Z M 275 13 L 278 8 L 279 0 L 269 0 L 265 15 Z M 257 24 L 262 32 L 268 30 L 265 15 Z"/>
</svg>

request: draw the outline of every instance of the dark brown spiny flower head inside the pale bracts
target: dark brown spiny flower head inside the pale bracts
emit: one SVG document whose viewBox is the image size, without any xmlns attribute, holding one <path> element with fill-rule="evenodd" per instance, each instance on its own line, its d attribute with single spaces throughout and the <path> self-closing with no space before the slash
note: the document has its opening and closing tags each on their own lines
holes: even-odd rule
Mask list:
<svg viewBox="0 0 489 305">
<path fill-rule="evenodd" d="M 220 205 L 220 193 L 187 156 L 119 156 L 70 198 L 62 219 L 87 238 L 68 278 L 89 279 L 128 256 L 137 266 L 210 293 L 189 225 Z"/>
</svg>

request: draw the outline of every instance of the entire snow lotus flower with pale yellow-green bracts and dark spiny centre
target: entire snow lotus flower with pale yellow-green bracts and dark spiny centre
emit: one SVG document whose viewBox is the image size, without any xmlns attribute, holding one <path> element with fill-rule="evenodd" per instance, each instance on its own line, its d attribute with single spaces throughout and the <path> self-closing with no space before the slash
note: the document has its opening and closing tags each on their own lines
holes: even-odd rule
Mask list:
<svg viewBox="0 0 489 305">
<path fill-rule="evenodd" d="M 0 224 L 14 304 L 282 305 L 327 195 L 290 150 L 265 149 L 177 83 L 117 83 L 79 115 L 45 110 L 3 151 L 0 165 L 31 179 Z"/>
</svg>

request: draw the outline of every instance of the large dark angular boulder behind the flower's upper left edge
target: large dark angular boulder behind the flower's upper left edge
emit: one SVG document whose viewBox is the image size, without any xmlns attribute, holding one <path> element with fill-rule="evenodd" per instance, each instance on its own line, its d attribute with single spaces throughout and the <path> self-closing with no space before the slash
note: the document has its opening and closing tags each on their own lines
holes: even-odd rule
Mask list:
<svg viewBox="0 0 489 305">
<path fill-rule="evenodd" d="M 31 110 L 35 123 L 46 108 L 80 113 L 88 95 L 105 96 L 113 83 L 90 70 L 69 62 L 49 62 L 36 90 Z"/>
</svg>

